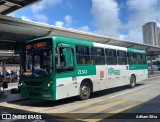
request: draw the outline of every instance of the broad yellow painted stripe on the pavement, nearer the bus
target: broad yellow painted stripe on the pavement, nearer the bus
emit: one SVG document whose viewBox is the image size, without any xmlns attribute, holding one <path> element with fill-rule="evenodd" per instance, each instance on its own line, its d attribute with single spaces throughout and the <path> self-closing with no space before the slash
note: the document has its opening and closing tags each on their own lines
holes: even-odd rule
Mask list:
<svg viewBox="0 0 160 122">
<path fill-rule="evenodd" d="M 73 116 L 69 117 L 68 114 L 62 114 L 60 115 L 61 117 L 66 117 L 66 118 L 71 118 L 71 119 L 81 119 L 81 118 L 86 118 L 87 116 L 91 116 L 92 114 L 94 115 L 95 113 L 100 113 L 103 110 L 106 110 L 108 108 L 111 108 L 113 106 L 122 104 L 126 101 L 114 101 L 114 102 L 110 102 L 107 103 L 105 105 L 99 105 L 99 106 L 92 106 L 90 108 L 84 109 L 84 110 L 80 110 L 80 111 L 75 111 L 73 113 Z M 77 113 L 77 114 L 75 114 Z"/>
</svg>

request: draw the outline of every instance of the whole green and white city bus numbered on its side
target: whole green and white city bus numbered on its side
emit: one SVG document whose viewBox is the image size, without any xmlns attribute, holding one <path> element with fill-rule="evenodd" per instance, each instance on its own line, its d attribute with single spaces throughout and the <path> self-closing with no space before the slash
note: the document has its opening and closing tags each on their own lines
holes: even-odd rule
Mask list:
<svg viewBox="0 0 160 122">
<path fill-rule="evenodd" d="M 20 90 L 27 98 L 84 100 L 146 78 L 145 50 L 52 36 L 28 41 L 21 51 Z"/>
</svg>

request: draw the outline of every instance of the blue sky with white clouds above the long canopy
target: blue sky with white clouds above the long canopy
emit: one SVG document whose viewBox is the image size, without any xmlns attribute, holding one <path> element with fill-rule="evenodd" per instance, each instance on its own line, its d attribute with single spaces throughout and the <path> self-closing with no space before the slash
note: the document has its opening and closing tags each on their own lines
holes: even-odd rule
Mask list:
<svg viewBox="0 0 160 122">
<path fill-rule="evenodd" d="M 42 0 L 12 16 L 142 43 L 142 25 L 160 25 L 159 5 L 159 0 Z"/>
</svg>

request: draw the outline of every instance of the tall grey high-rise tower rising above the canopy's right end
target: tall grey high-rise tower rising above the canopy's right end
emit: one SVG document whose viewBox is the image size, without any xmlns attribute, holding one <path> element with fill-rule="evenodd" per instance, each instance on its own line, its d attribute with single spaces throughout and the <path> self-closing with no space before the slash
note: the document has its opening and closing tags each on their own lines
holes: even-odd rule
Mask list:
<svg viewBox="0 0 160 122">
<path fill-rule="evenodd" d="M 160 47 L 160 28 L 155 22 L 148 22 L 142 27 L 143 43 Z"/>
</svg>

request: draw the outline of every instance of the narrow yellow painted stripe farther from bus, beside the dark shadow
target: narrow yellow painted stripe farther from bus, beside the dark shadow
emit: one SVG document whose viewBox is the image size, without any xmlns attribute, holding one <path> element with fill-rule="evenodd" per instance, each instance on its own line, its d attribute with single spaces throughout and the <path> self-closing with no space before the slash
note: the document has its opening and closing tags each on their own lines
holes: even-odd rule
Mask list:
<svg viewBox="0 0 160 122">
<path fill-rule="evenodd" d="M 123 112 L 123 111 L 125 111 L 125 110 L 127 110 L 127 109 L 130 109 L 130 108 L 132 108 L 132 107 L 134 107 L 134 106 L 137 106 L 137 105 L 139 105 L 139 104 L 141 104 L 141 103 L 137 103 L 137 104 L 134 104 L 134 105 L 130 105 L 130 106 L 121 108 L 121 109 L 117 109 L 117 110 L 114 110 L 114 111 L 110 111 L 108 114 L 107 114 L 107 113 L 106 113 L 106 114 L 101 114 L 101 115 L 94 116 L 94 117 L 92 117 L 92 118 L 90 118 L 90 119 L 84 119 L 83 121 L 86 121 L 86 122 L 100 121 L 100 120 L 103 120 L 103 119 L 105 119 L 105 118 L 107 118 L 107 117 L 113 116 L 114 114 Z M 97 118 L 97 119 L 96 119 L 96 118 Z"/>
</svg>

